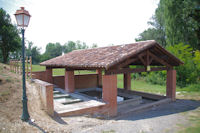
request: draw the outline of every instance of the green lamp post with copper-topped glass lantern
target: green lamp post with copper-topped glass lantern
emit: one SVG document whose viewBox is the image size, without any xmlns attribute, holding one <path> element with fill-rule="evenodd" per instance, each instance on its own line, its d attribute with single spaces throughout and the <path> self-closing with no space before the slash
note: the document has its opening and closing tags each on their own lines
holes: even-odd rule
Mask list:
<svg viewBox="0 0 200 133">
<path fill-rule="evenodd" d="M 25 32 L 25 27 L 28 27 L 29 20 L 31 15 L 29 14 L 28 11 L 24 9 L 24 7 L 21 7 L 20 10 L 17 10 L 16 13 L 14 14 L 17 25 L 21 27 L 21 32 L 22 32 L 22 86 L 23 86 L 23 96 L 22 96 L 22 104 L 23 104 L 23 112 L 21 119 L 23 121 L 28 121 L 30 119 L 29 113 L 28 113 L 28 107 L 27 107 L 27 96 L 26 96 L 26 81 L 25 81 L 25 61 L 24 61 L 24 32 Z"/>
</svg>

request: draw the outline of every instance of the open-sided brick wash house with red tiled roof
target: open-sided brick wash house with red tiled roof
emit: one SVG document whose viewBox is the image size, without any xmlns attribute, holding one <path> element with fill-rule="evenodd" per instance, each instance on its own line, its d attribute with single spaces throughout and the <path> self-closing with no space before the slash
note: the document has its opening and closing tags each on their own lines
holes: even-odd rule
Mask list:
<svg viewBox="0 0 200 133">
<path fill-rule="evenodd" d="M 147 99 L 175 101 L 176 70 L 174 67 L 181 64 L 183 62 L 178 58 L 156 41 L 150 40 L 126 45 L 74 50 L 42 62 L 40 65 L 46 66 L 46 71 L 37 73 L 36 77 L 57 85 L 69 94 L 76 93 L 81 89 L 100 88 L 100 99 L 106 106 L 99 108 L 99 110 L 101 112 L 106 110 L 109 116 L 116 116 L 119 112 L 118 106 L 121 106 L 117 102 L 119 94 L 127 96 L 128 99 L 130 99 L 130 95 L 133 95 Z M 55 68 L 64 68 L 65 75 L 53 76 L 52 69 Z M 75 75 L 77 70 L 92 70 L 96 71 L 96 74 Z M 166 96 L 131 89 L 131 84 L 133 84 L 131 83 L 131 73 L 163 70 L 167 71 Z M 117 88 L 117 74 L 123 74 L 124 88 Z M 125 102 L 124 104 L 131 103 Z M 98 109 L 94 111 L 98 112 Z"/>
</svg>

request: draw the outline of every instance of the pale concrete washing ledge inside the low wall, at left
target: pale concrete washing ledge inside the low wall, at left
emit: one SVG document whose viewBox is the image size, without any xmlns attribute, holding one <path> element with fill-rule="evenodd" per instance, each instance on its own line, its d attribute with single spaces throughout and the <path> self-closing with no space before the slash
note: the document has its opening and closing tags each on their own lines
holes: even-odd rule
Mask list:
<svg viewBox="0 0 200 133">
<path fill-rule="evenodd" d="M 80 95 L 79 93 L 67 93 L 58 87 L 54 88 L 54 92 L 54 94 L 58 94 L 54 96 L 54 110 L 59 116 L 91 114 L 95 112 L 95 110 L 106 105 L 104 102 L 92 100 Z M 67 104 L 65 104 L 64 99 L 62 99 L 65 97 L 71 97 L 71 102 L 69 99 Z M 58 100 L 59 98 L 61 98 L 61 100 Z"/>
</svg>

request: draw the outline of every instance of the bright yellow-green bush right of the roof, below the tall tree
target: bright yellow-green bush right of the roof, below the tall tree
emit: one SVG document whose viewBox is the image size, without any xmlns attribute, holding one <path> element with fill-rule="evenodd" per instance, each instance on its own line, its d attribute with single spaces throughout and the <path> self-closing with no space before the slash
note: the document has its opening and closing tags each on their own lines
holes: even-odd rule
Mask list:
<svg viewBox="0 0 200 133">
<path fill-rule="evenodd" d="M 184 65 L 176 67 L 178 85 L 183 87 L 188 84 L 198 83 L 200 76 L 198 51 L 193 55 L 193 49 L 183 43 L 168 46 L 167 49 L 184 62 Z"/>
</svg>

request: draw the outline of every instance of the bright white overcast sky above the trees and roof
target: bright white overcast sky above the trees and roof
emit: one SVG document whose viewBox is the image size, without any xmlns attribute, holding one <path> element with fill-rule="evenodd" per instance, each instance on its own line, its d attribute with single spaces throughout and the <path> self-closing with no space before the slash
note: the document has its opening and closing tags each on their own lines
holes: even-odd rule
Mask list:
<svg viewBox="0 0 200 133">
<path fill-rule="evenodd" d="M 31 14 L 25 37 L 44 52 L 49 42 L 80 40 L 99 47 L 135 42 L 149 27 L 159 0 L 0 0 L 15 22 L 21 6 Z"/>
</svg>

